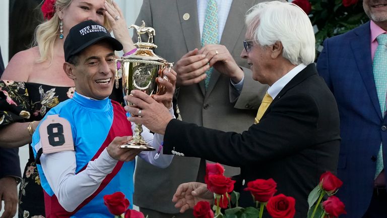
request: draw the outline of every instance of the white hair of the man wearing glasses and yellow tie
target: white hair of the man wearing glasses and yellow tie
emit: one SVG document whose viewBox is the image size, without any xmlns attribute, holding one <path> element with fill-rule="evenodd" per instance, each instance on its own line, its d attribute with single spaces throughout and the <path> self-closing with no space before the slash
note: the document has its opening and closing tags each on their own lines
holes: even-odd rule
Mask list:
<svg viewBox="0 0 387 218">
<path fill-rule="evenodd" d="M 292 3 L 264 2 L 246 15 L 249 35 L 261 46 L 280 41 L 282 56 L 294 65 L 314 62 L 315 38 L 309 17 Z"/>
</svg>

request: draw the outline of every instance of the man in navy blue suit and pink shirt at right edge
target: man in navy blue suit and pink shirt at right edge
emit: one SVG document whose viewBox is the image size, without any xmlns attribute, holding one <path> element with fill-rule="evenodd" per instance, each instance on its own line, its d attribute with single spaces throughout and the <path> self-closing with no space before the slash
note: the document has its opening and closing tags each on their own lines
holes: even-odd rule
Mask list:
<svg viewBox="0 0 387 218">
<path fill-rule="evenodd" d="M 339 107 L 342 141 L 338 177 L 344 184 L 337 195 L 351 218 L 387 217 L 387 119 L 383 109 L 387 87 L 376 86 L 380 80 L 375 79 L 378 76 L 375 77 L 376 66 L 372 64 L 378 65 L 374 56 L 378 45 L 385 44 L 377 39 L 387 31 L 385 4 L 387 1 L 364 0 L 363 8 L 371 21 L 327 39 L 317 61 L 318 73 L 326 80 Z M 387 58 L 380 59 L 387 66 Z M 387 68 L 381 78 L 387 78 Z M 381 144 L 383 155 L 379 156 Z M 384 162 L 381 173 L 376 172 L 378 161 Z"/>
</svg>

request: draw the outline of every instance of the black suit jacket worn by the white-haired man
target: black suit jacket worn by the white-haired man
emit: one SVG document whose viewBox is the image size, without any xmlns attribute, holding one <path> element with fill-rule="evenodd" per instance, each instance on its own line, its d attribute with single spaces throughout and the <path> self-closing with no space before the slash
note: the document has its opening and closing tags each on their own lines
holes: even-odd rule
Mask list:
<svg viewBox="0 0 387 218">
<path fill-rule="evenodd" d="M 237 134 L 172 120 L 164 153 L 174 150 L 240 167 L 236 189 L 242 206 L 253 203 L 242 191 L 247 182 L 273 178 L 278 193 L 296 199 L 295 217 L 306 217 L 307 196 L 320 175 L 336 171 L 339 131 L 335 98 L 310 64 L 281 90 L 259 124 Z"/>
</svg>

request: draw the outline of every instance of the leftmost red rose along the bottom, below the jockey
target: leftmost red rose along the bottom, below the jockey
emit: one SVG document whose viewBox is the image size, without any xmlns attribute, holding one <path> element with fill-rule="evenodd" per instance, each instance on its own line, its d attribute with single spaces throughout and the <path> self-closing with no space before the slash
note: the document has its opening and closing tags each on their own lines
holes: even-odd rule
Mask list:
<svg viewBox="0 0 387 218">
<path fill-rule="evenodd" d="M 121 215 L 130 204 L 129 200 L 125 198 L 125 195 L 122 192 L 105 195 L 103 196 L 103 201 L 105 202 L 107 209 L 113 215 Z"/>
</svg>

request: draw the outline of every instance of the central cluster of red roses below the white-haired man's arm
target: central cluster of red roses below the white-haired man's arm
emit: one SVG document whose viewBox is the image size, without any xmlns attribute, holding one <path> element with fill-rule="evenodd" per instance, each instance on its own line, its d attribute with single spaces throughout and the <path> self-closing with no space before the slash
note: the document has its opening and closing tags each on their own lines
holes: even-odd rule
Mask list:
<svg viewBox="0 0 387 218">
<path fill-rule="evenodd" d="M 274 196 L 277 192 L 277 183 L 273 179 L 257 179 L 247 183 L 245 191 L 250 191 L 255 207 L 239 207 L 239 193 L 233 191 L 235 181 L 223 175 L 224 168 L 219 164 L 207 164 L 205 183 L 207 189 L 214 193 L 214 207 L 212 211 L 207 201 L 198 202 L 193 207 L 196 218 L 256 218 L 262 217 L 265 207 L 274 218 L 290 218 L 295 214 L 295 199 L 283 194 Z M 236 207 L 231 208 L 231 204 Z M 225 209 L 224 214 L 221 208 Z"/>
</svg>

